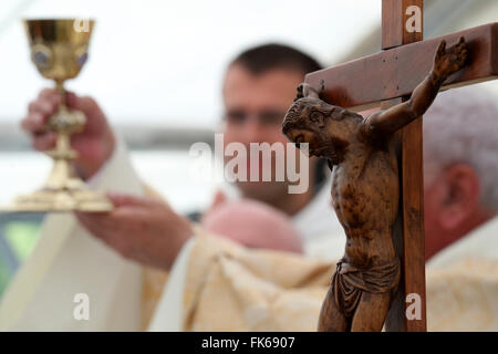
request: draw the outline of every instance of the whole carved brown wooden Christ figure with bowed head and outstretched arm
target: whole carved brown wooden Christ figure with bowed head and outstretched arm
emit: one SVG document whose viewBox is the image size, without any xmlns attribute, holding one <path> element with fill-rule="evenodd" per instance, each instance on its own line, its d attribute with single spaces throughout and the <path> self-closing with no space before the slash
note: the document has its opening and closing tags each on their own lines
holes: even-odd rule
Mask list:
<svg viewBox="0 0 498 354">
<path fill-rule="evenodd" d="M 392 231 L 400 200 L 393 135 L 422 116 L 446 77 L 467 59 L 464 38 L 446 49 L 442 41 L 433 69 L 409 101 L 367 118 L 320 100 L 308 84 L 298 87 L 282 132 L 310 155 L 329 159 L 332 199 L 346 235 L 323 302 L 319 331 L 381 331 L 400 282 Z"/>
</svg>

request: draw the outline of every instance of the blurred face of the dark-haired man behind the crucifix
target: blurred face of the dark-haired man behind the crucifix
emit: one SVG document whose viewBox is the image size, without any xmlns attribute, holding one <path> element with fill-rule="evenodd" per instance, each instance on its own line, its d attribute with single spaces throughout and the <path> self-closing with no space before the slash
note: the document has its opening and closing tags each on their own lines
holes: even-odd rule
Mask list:
<svg viewBox="0 0 498 354">
<path fill-rule="evenodd" d="M 225 146 L 229 143 L 241 143 L 249 155 L 250 143 L 286 145 L 288 139 L 282 134 L 283 116 L 293 102 L 295 87 L 302 81 L 303 74 L 298 71 L 278 69 L 255 75 L 242 65 L 232 65 L 227 72 L 224 85 Z M 273 155 L 272 180 L 276 165 Z M 253 164 L 255 162 L 251 164 L 249 160 L 248 176 L 250 169 L 256 167 Z M 260 155 L 260 176 L 261 169 Z M 237 186 L 247 197 L 263 201 L 287 192 L 287 183 L 237 181 Z"/>
</svg>

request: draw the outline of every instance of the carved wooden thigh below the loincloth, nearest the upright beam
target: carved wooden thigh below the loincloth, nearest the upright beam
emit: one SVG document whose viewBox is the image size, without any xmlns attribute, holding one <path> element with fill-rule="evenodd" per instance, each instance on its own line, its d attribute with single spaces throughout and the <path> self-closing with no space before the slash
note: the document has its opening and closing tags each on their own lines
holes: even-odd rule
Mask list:
<svg viewBox="0 0 498 354">
<path fill-rule="evenodd" d="M 391 293 L 363 292 L 354 312 L 351 332 L 381 332 L 391 304 Z"/>
</svg>

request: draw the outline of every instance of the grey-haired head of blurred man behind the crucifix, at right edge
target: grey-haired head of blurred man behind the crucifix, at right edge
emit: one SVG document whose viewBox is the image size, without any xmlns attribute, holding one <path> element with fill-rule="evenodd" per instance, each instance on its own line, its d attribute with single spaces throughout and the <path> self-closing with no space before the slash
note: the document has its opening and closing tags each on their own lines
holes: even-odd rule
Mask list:
<svg viewBox="0 0 498 354">
<path fill-rule="evenodd" d="M 439 94 L 424 115 L 426 257 L 498 215 L 498 106 L 480 87 Z"/>
</svg>

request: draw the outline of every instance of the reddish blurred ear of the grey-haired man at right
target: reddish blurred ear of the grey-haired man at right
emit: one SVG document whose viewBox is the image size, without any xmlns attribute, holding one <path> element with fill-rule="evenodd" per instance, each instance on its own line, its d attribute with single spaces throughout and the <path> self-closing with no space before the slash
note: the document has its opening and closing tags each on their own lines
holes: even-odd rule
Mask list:
<svg viewBox="0 0 498 354">
<path fill-rule="evenodd" d="M 439 205 L 439 222 L 446 230 L 466 228 L 479 209 L 479 177 L 466 164 L 452 165 L 443 174 L 445 188 Z"/>
</svg>

